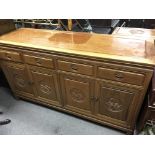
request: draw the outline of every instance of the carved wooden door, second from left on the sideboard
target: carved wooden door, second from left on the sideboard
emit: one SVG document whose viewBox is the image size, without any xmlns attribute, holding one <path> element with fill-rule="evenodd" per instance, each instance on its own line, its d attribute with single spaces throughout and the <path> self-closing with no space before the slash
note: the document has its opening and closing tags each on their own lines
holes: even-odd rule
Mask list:
<svg viewBox="0 0 155 155">
<path fill-rule="evenodd" d="M 59 91 L 56 73 L 41 67 L 30 67 L 32 81 L 39 100 L 59 105 Z"/>
</svg>

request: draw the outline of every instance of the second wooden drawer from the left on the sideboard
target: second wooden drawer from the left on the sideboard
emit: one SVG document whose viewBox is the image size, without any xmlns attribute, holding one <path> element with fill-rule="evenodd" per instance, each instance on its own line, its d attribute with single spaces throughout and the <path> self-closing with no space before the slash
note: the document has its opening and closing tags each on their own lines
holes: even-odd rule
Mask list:
<svg viewBox="0 0 155 155">
<path fill-rule="evenodd" d="M 26 63 L 41 67 L 54 68 L 54 63 L 52 58 L 39 57 L 33 55 L 24 55 L 24 60 Z"/>
</svg>

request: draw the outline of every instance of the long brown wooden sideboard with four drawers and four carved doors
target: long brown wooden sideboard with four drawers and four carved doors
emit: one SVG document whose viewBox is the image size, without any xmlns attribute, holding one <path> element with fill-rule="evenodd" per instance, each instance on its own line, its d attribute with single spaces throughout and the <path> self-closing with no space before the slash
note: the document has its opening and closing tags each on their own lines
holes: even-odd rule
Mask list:
<svg viewBox="0 0 155 155">
<path fill-rule="evenodd" d="M 145 43 L 23 28 L 0 37 L 0 63 L 16 97 L 133 133 L 155 64 Z"/>
</svg>

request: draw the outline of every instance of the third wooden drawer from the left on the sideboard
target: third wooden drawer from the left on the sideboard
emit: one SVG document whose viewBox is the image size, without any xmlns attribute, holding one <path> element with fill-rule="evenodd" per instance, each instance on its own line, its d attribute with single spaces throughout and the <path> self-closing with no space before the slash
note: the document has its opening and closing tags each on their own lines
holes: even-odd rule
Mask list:
<svg viewBox="0 0 155 155">
<path fill-rule="evenodd" d="M 58 69 L 84 75 L 93 75 L 93 66 L 87 64 L 58 60 Z"/>
</svg>

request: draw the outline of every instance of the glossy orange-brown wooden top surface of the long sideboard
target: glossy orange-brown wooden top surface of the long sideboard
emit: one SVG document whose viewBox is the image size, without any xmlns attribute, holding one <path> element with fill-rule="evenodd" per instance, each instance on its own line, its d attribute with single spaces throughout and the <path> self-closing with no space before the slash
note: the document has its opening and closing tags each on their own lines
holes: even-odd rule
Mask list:
<svg viewBox="0 0 155 155">
<path fill-rule="evenodd" d="M 155 65 L 151 38 L 21 28 L 2 35 L 0 44 Z"/>
</svg>

